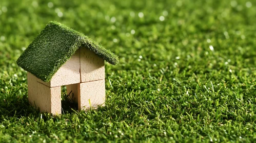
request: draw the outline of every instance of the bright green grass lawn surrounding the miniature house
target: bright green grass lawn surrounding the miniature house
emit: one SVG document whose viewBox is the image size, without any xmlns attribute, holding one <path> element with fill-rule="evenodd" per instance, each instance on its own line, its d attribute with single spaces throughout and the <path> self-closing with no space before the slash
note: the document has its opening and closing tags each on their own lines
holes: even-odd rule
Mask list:
<svg viewBox="0 0 256 143">
<path fill-rule="evenodd" d="M 254 0 L 1 0 L 0 10 L 0 142 L 256 140 Z M 105 63 L 105 107 L 53 117 L 29 106 L 16 59 L 51 20 L 119 56 Z"/>
</svg>

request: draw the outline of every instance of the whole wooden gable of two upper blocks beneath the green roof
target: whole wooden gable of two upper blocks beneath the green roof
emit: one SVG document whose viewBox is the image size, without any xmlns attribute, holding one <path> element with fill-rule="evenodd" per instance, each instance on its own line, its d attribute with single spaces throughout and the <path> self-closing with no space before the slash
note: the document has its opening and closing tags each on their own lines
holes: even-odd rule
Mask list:
<svg viewBox="0 0 256 143">
<path fill-rule="evenodd" d="M 75 54 L 63 64 L 49 82 L 40 82 L 48 87 L 57 87 L 82 82 L 105 79 L 104 59 L 87 49 L 80 47 Z"/>
</svg>

